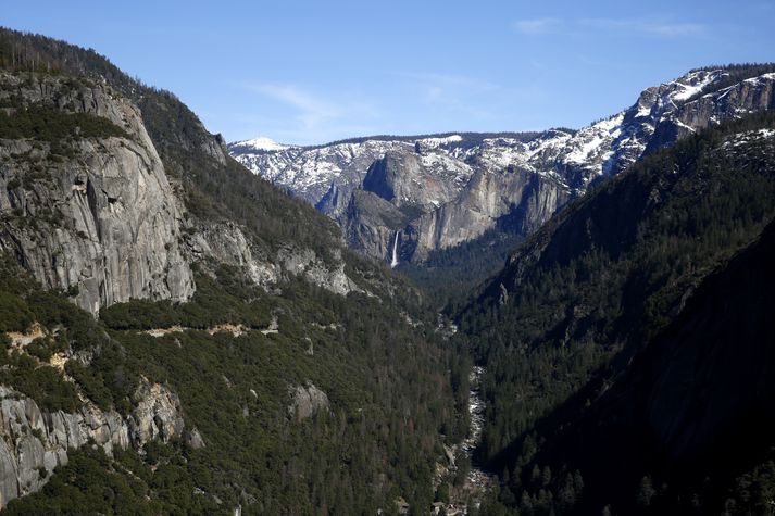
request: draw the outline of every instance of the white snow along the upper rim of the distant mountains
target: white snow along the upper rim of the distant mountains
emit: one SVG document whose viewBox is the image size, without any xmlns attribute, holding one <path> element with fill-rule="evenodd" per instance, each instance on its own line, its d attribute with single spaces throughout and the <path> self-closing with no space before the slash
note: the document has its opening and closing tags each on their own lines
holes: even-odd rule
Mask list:
<svg viewBox="0 0 775 516">
<path fill-rule="evenodd" d="M 624 122 L 625 112 L 609 119 L 582 128 L 575 133 L 548 131 L 527 142 L 518 138 L 487 138 L 479 144 L 460 144 L 460 134 L 443 137 L 398 140 L 365 140 L 359 143 L 338 143 L 327 147 L 288 147 L 268 138 L 255 138 L 235 143 L 240 154 L 236 158 L 266 179 L 292 191 L 300 198 L 315 203 L 332 184 L 349 192 L 362 183 L 368 167 L 386 153 L 414 153 L 420 142 L 417 161 L 434 179 L 442 181 L 449 191 L 465 188 L 475 172 L 504 173 L 510 166 L 521 173 L 535 173 L 551 177 L 559 183 L 572 185 L 583 191 L 596 175 L 613 174 L 640 159 L 648 138 L 663 122 L 685 126 L 679 118 L 686 100 L 713 89 L 712 84 L 725 72 L 698 71 L 673 81 L 665 83 L 641 93 L 638 103 L 627 112 L 636 113 L 635 119 Z M 746 80 L 748 85 L 763 85 L 775 80 L 775 73 Z M 705 93 L 713 101 L 726 105 L 729 91 L 739 85 Z M 746 110 L 726 106 L 713 113 L 712 122 L 721 123 L 732 113 L 742 115 Z M 687 129 L 691 129 L 687 127 Z M 772 133 L 762 137 L 773 138 Z M 467 137 L 466 137 L 467 138 Z M 772 140 L 770 140 L 772 141 Z M 253 151 L 254 150 L 254 151 Z M 571 187 L 568 187 L 571 188 Z M 441 205 L 447 202 L 424 193 L 427 202 Z M 395 246 L 395 242 L 390 242 Z M 388 246 L 390 246 L 388 243 Z M 390 250 L 388 249 L 388 257 Z"/>
</svg>

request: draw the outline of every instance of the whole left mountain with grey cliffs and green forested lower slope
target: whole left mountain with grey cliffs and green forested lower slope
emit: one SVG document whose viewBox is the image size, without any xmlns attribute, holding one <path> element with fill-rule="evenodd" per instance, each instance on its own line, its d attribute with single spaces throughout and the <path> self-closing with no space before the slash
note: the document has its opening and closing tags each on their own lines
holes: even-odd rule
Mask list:
<svg viewBox="0 0 775 516">
<path fill-rule="evenodd" d="M 174 95 L 0 29 L 0 187 L 8 514 L 430 506 L 465 358 Z"/>
</svg>

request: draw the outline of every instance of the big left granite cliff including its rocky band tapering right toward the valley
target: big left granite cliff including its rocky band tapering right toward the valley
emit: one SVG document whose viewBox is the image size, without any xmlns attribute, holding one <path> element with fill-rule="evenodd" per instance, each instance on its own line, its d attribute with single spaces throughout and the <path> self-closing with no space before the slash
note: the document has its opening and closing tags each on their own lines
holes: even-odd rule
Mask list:
<svg viewBox="0 0 775 516">
<path fill-rule="evenodd" d="M 209 260 L 242 267 L 266 289 L 300 274 L 337 293 L 355 290 L 340 257 L 325 263 L 293 242 L 271 249 L 240 224 L 193 217 L 158 146 L 216 168 L 228 158 L 197 119 L 193 130 L 167 128 L 152 140 L 143 116 L 170 105 L 146 106 L 145 114 L 103 83 L 9 73 L 0 74 L 0 105 L 8 116 L 0 134 L 0 251 L 92 314 L 130 299 L 186 301 L 196 288 L 191 264 Z M 32 113 L 32 126 L 16 129 L 23 113 Z M 178 176 L 187 172 L 174 158 L 165 162 Z"/>
</svg>

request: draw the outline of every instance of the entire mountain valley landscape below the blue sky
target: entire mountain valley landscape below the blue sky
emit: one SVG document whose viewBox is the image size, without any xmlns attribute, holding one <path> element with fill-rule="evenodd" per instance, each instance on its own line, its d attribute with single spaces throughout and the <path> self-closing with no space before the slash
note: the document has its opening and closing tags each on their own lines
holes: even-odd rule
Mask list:
<svg viewBox="0 0 775 516">
<path fill-rule="evenodd" d="M 774 86 L 226 143 L 0 29 L 0 509 L 768 514 Z"/>
</svg>

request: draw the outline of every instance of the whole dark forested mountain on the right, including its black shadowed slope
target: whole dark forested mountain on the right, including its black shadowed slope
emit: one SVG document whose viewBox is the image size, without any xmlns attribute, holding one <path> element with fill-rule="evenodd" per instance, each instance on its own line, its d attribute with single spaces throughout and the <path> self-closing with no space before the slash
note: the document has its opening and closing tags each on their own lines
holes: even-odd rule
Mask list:
<svg viewBox="0 0 775 516">
<path fill-rule="evenodd" d="M 698 130 L 573 201 L 483 287 L 459 338 L 486 368 L 491 509 L 764 511 L 774 171 L 774 112 Z"/>
</svg>

